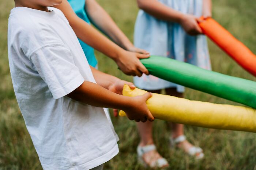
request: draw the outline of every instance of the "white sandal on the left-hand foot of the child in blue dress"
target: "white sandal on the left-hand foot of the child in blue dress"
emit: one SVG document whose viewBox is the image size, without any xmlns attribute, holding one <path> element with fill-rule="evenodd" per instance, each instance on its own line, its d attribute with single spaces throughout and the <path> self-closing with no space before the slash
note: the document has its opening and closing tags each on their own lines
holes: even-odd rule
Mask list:
<svg viewBox="0 0 256 170">
<path fill-rule="evenodd" d="M 151 168 L 163 168 L 166 167 L 165 165 L 168 165 L 168 162 L 165 158 L 159 158 L 154 162 L 151 162 L 149 165 L 143 160 L 142 156 L 145 153 L 148 153 L 150 151 L 156 150 L 155 145 L 146 145 L 146 146 L 138 146 L 137 147 L 137 154 L 138 154 L 138 161 L 144 165 L 144 167 L 151 167 Z"/>
</svg>

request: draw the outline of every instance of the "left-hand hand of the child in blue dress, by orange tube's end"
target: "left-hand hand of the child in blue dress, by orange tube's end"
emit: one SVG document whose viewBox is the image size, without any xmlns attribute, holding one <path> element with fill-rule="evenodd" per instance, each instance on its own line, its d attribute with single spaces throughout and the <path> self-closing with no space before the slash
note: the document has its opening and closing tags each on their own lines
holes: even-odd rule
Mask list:
<svg viewBox="0 0 256 170">
<path fill-rule="evenodd" d="M 199 35 L 203 33 L 202 29 L 197 24 L 197 18 L 193 15 L 184 14 L 180 24 L 189 35 Z"/>
</svg>

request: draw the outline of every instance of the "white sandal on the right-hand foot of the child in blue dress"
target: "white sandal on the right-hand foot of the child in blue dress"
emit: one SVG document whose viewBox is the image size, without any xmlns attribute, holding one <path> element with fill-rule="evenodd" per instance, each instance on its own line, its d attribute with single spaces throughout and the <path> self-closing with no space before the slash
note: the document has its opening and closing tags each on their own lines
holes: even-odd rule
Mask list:
<svg viewBox="0 0 256 170">
<path fill-rule="evenodd" d="M 186 140 L 186 137 L 184 135 L 180 135 L 179 137 L 177 137 L 175 139 L 170 137 L 170 145 L 175 147 L 178 143 L 184 142 L 185 140 Z M 188 150 L 188 154 L 195 157 L 196 159 L 202 159 L 204 157 L 202 148 L 196 147 L 196 146 L 192 146 Z"/>
</svg>

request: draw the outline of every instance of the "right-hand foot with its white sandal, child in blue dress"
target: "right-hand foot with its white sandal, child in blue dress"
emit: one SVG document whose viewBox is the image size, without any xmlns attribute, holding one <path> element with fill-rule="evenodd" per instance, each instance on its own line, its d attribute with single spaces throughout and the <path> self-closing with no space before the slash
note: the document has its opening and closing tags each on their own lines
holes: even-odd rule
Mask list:
<svg viewBox="0 0 256 170">
<path fill-rule="evenodd" d="M 188 153 L 191 156 L 194 156 L 196 159 L 202 159 L 204 157 L 203 150 L 200 147 L 196 147 L 189 143 L 184 135 L 180 135 L 177 138 L 170 137 L 170 143 L 172 146 L 176 146 Z"/>
</svg>

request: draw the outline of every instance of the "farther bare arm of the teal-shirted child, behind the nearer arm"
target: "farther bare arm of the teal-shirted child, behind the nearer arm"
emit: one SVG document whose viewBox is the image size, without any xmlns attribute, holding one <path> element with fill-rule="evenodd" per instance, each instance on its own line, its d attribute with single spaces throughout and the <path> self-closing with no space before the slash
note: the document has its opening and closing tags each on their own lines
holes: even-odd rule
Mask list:
<svg viewBox="0 0 256 170">
<path fill-rule="evenodd" d="M 118 46 L 132 52 L 148 54 L 147 51 L 136 48 L 124 33 L 117 27 L 109 14 L 95 0 L 86 0 L 86 12 L 91 22 L 110 37 Z"/>
</svg>

